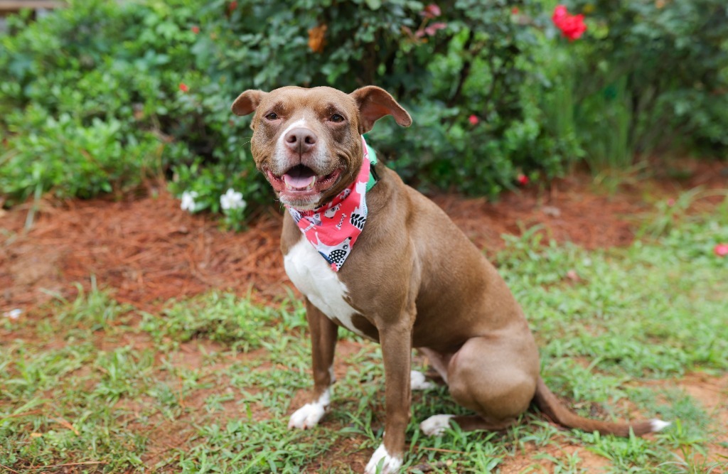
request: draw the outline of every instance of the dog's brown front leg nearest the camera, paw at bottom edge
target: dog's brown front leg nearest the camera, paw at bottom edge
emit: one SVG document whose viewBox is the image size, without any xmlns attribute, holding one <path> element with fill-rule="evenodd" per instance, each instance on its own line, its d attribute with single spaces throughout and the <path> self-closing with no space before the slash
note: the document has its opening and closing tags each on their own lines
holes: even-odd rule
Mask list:
<svg viewBox="0 0 728 474">
<path fill-rule="evenodd" d="M 405 432 L 410 417 L 412 325 L 403 315 L 395 325 L 379 328 L 381 354 L 384 358 L 384 400 L 387 420 L 384 441 L 374 451 L 365 473 L 374 474 L 381 462 L 381 473 L 397 473 L 405 451 Z M 382 459 L 384 461 L 382 462 Z"/>
</svg>

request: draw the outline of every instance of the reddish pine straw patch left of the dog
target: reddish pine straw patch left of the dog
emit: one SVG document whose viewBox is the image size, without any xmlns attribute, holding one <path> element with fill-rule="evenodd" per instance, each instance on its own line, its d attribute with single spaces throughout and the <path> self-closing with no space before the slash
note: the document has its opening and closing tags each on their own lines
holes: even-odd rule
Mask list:
<svg viewBox="0 0 728 474">
<path fill-rule="evenodd" d="M 1 225 L 1 311 L 32 309 L 48 291 L 73 297 L 74 282 L 95 276 L 114 297 L 142 309 L 212 288 L 264 297 L 283 293 L 280 218 L 258 218 L 248 232 L 221 232 L 210 216 L 191 216 L 167 192 L 124 202 L 88 200 L 46 207 L 28 232 L 25 212 L 11 210 Z"/>
</svg>

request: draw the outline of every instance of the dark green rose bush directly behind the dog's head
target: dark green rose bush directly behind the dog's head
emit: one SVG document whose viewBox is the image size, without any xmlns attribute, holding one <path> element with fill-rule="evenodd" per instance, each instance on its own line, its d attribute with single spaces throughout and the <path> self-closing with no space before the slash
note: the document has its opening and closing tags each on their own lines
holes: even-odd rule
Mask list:
<svg viewBox="0 0 728 474">
<path fill-rule="evenodd" d="M 449 1 L 440 12 L 409 0 L 238 1 L 228 15 L 219 12 L 229 2 L 210 2 L 193 50 L 231 95 L 287 84 L 384 87 L 414 118 L 406 132 L 384 120 L 371 134 L 389 165 L 424 189 L 493 196 L 521 172 L 558 175 L 578 153 L 545 126 L 542 32 L 518 21 L 515 4 L 542 16 L 534 0 Z M 322 28 L 317 52 L 309 31 Z"/>
</svg>

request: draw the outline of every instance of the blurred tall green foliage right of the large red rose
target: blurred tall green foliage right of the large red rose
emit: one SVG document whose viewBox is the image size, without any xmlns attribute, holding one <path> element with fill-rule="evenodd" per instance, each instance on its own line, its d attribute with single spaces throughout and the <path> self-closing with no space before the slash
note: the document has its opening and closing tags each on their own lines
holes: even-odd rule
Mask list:
<svg viewBox="0 0 728 474">
<path fill-rule="evenodd" d="M 558 55 L 596 170 L 654 152 L 728 151 L 728 10 L 721 0 L 570 0 L 589 29 Z"/>
</svg>

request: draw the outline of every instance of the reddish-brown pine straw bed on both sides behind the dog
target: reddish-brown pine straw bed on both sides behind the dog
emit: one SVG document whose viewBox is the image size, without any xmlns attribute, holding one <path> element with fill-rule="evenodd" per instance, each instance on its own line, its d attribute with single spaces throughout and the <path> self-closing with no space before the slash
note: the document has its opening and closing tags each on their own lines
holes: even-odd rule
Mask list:
<svg viewBox="0 0 728 474">
<path fill-rule="evenodd" d="M 549 189 L 529 186 L 499 202 L 433 197 L 480 248 L 502 248 L 501 234 L 540 224 L 548 237 L 585 248 L 629 245 L 638 216 L 660 199 L 695 186 L 725 188 L 726 166 L 685 161 L 690 177 L 623 185 L 609 195 L 593 190 L 588 175 L 573 175 Z M 0 312 L 31 310 L 53 294 L 74 296 L 74 282 L 114 288 L 119 301 L 141 309 L 213 288 L 265 299 L 285 295 L 280 215 L 270 209 L 246 232 L 224 232 L 211 216 L 192 216 L 166 191 L 157 197 L 44 202 L 23 230 L 29 206 L 0 209 Z"/>
</svg>

